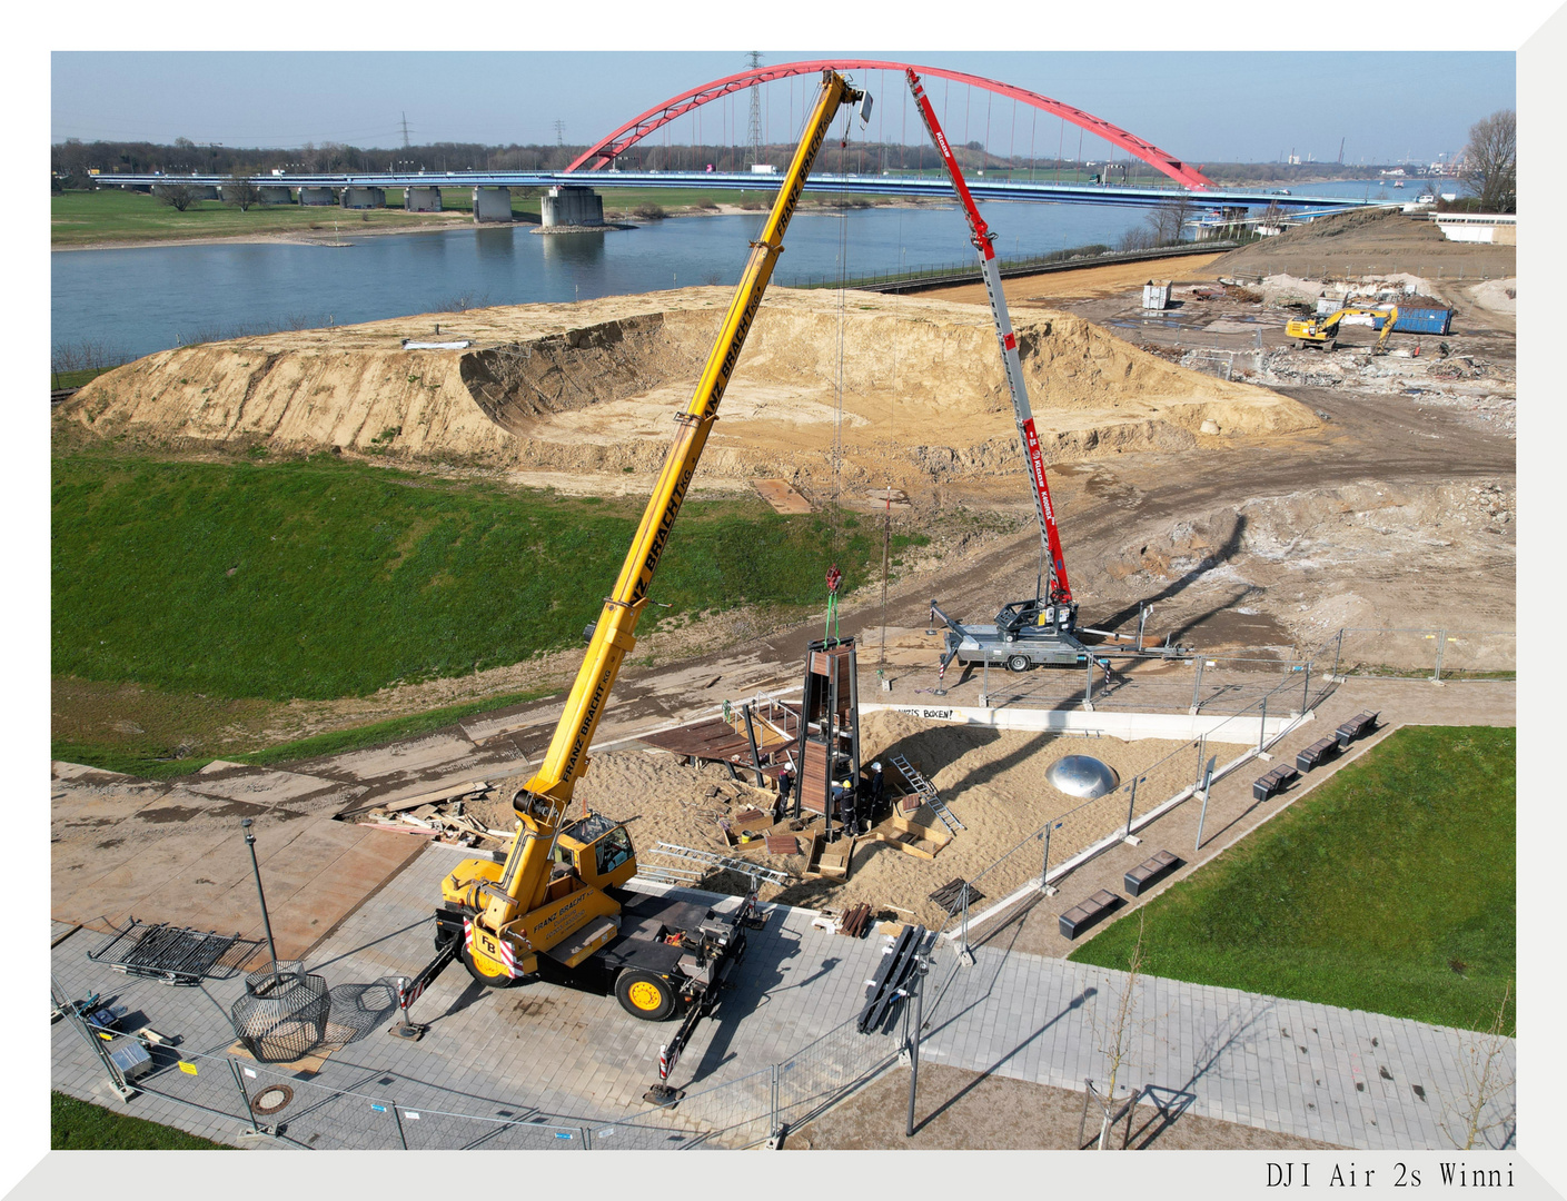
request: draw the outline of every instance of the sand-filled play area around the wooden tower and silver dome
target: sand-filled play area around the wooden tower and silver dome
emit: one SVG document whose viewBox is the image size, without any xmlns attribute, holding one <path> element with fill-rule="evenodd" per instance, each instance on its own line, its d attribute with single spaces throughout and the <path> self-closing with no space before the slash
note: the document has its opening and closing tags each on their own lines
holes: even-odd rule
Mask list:
<svg viewBox="0 0 1567 1201">
<path fill-rule="evenodd" d="M 1114 738 L 946 725 L 890 711 L 867 714 L 862 727 L 865 763 L 895 753 L 906 755 L 935 783 L 942 799 L 967 830 L 934 860 L 862 839 L 856 846 L 846 882 L 802 880 L 782 889 L 765 888 L 762 896 L 788 905 L 834 910 L 863 902 L 876 911 L 899 911 L 904 919 L 935 929 L 946 918 L 929 900 L 935 888 L 954 877 L 976 877 L 1048 819 L 1073 813 L 1051 836 L 1053 864 L 1114 833 L 1125 822 L 1125 791 L 1084 806 L 1081 799 L 1059 792 L 1045 780 L 1047 769 L 1056 759 L 1064 755 L 1092 755 L 1114 767 L 1122 781 L 1139 775 L 1141 814 L 1192 783 L 1196 756 L 1175 753 L 1186 748 L 1189 744 L 1163 739 L 1124 742 Z M 490 800 L 470 803 L 469 811 L 497 828 L 509 828 L 509 797 L 525 778 L 516 777 L 497 784 Z M 738 853 L 719 846 L 718 821 L 754 800 L 769 803 L 771 795 L 735 786 L 718 764 L 694 767 L 671 755 L 650 755 L 635 748 L 595 755 L 592 767 L 577 786 L 581 803 L 627 822 L 638 853 L 649 864 L 660 861 L 660 857 L 649 852 L 661 841 Z M 915 821 L 935 824 L 932 814 L 921 813 Z M 1006 896 L 1030 877 L 1039 877 L 1042 852 L 1042 842 L 1031 842 L 987 874 L 978 886 L 987 899 Z M 799 855 L 752 853 L 749 858 L 796 875 L 805 866 Z M 741 893 L 744 880 L 719 872 L 710 875 L 702 886 Z"/>
</svg>

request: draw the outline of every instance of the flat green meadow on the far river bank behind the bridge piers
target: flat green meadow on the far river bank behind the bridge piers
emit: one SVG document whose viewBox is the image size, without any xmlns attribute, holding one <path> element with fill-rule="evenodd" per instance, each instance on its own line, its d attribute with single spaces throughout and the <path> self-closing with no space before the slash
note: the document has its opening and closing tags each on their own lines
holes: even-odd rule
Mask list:
<svg viewBox="0 0 1567 1201">
<path fill-rule="evenodd" d="M 705 210 L 718 204 L 763 204 L 771 193 L 702 191 L 696 188 L 603 189 L 605 213 L 632 215 L 653 205 L 666 211 Z M 345 235 L 365 230 L 447 229 L 473 211 L 472 188 L 442 188 L 443 213 L 403 211 L 401 188 L 387 189 L 385 208 L 337 208 L 301 205 L 254 205 L 241 213 L 223 200 L 197 200 L 183 213 L 147 193 L 103 188 L 96 193 L 63 193 L 50 197 L 50 244 L 55 249 L 96 243 L 174 241 L 182 238 L 243 238 L 271 235 L 329 235 L 334 222 Z M 514 221 L 539 222 L 539 197 L 512 191 Z"/>
</svg>

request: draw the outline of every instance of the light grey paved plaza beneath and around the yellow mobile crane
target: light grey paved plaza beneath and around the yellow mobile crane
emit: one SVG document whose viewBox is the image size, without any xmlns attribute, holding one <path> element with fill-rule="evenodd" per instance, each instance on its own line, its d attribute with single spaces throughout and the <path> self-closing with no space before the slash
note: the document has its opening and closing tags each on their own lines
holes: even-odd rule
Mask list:
<svg viewBox="0 0 1567 1201">
<path fill-rule="evenodd" d="M 439 880 L 458 858 L 447 847 L 423 849 L 318 947 L 310 969 L 332 986 L 415 972 L 432 949 L 429 914 Z M 680 896 L 735 903 L 716 894 Z M 448 1127 L 459 1140 L 453 1146 L 472 1141 L 475 1131 L 487 1129 L 484 1123 L 520 1116 L 552 1129 L 595 1127 L 600 1137 L 594 1145 L 600 1148 L 613 1146 L 616 1137 L 622 1145 L 679 1146 L 702 1141 L 715 1129 L 743 1131 L 741 1141 L 765 1137 L 771 1065 L 782 1065 L 785 1091 L 794 1088 L 790 1096 L 823 1099 L 896 1052 L 896 1027 L 873 1035 L 852 1030 L 885 940 L 834 935 L 813 927 L 812 916 L 809 910 L 774 908 L 766 929 L 752 935 L 733 990 L 715 1019 L 697 1029 L 671 1076 L 693 1098 L 674 1112 L 657 1112 L 641 1101 L 657 1079 L 658 1049 L 672 1022 L 639 1022 L 613 997 L 550 983 L 486 990 L 454 966 L 415 1005 L 415 1016 L 431 1022 L 423 1041 L 389 1037 L 389 1013 L 296 1084 L 298 1093 L 332 1104 L 296 1118 L 295 1131 L 309 1131 L 310 1146 L 398 1146 L 398 1129 L 384 1113 L 393 1105 L 401 1110 L 401 1140 L 409 1146 L 420 1145 L 407 1132 L 414 1127 L 404 1116 L 409 1110 L 425 1123 L 451 1115 Z M 237 1090 L 224 1052 L 233 1035 L 226 1012 L 241 982 L 171 988 L 130 980 L 88 961 L 86 950 L 97 938 L 78 932 L 55 949 L 60 986 L 72 996 L 94 988 L 105 996 L 118 993 L 121 1004 L 144 1012 L 157 1029 L 180 1035 L 180 1054 L 197 1068 L 197 1077 L 179 1071 L 169 1057 L 149 1084 L 191 1099 L 197 1099 L 194 1088 L 207 1088 L 201 1096 L 216 1101 L 213 1109 L 232 1112 Z M 1084 1079 L 1103 1084 L 1098 1046 L 1125 986 L 1120 972 L 997 944 L 976 947 L 967 965 L 943 941 L 928 980 L 923 1054 L 1066 1088 L 1081 1088 Z M 1464 1098 L 1459 1063 L 1475 1035 L 1177 980 L 1142 977 L 1136 990 L 1131 1082 L 1189 1093 L 1191 1112 L 1203 1116 L 1326 1143 L 1449 1146 L 1439 1123 L 1443 1107 Z M 1506 1059 L 1511 1076 L 1511 1041 Z M 259 1069 L 248 1077 L 252 1093 L 266 1080 L 301 1079 L 246 1066 Z M 809 1085 L 794 1080 L 802 1074 L 810 1074 Z M 67 1022 L 56 1024 L 55 1087 L 102 1102 L 102 1076 L 77 1032 Z M 304 1096 L 295 1104 L 301 1101 Z M 223 1141 L 235 1141 L 243 1131 L 237 1118 L 150 1093 L 128 1109 Z M 1511 1098 L 1503 1109 L 1511 1112 Z M 467 1121 L 453 1127 L 458 1116 Z M 287 1115 L 279 1120 L 287 1121 Z M 418 1134 L 429 1129 L 426 1124 Z"/>
</svg>

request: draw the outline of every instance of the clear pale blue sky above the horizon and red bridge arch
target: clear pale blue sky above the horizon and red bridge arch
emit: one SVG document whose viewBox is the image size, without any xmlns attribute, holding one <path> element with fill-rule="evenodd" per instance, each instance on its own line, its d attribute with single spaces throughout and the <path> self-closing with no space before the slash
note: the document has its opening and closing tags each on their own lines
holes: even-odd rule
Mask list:
<svg viewBox="0 0 1567 1201">
<path fill-rule="evenodd" d="M 1319 160 L 1429 161 L 1464 146 L 1470 124 L 1515 106 L 1511 52 L 763 52 L 763 63 L 887 58 L 964 70 L 1083 108 L 1191 161 L 1271 161 L 1291 149 Z M 302 146 L 338 141 L 401 144 L 407 114 L 418 141 L 588 142 L 666 97 L 741 70 L 735 52 L 58 52 L 50 56 L 50 135 L 224 146 Z M 867 80 L 884 92 L 882 125 L 903 132 L 903 85 Z M 799 117 L 809 81 L 793 83 Z M 939 81 L 931 92 L 943 99 Z M 790 85 L 765 92 L 769 139 L 791 139 Z M 943 124 L 993 152 L 1051 153 L 1061 122 L 1011 100 L 954 88 Z M 896 117 L 896 121 L 895 121 Z M 744 141 L 746 102 L 702 110 L 704 141 Z M 914 121 L 912 111 L 907 119 Z M 691 119 L 672 127 L 688 141 Z M 722 130 L 722 133 L 719 133 Z M 918 122 L 907 139 L 918 141 Z M 1069 149 L 1070 155 L 1072 150 Z M 1084 147 L 1084 157 L 1094 157 Z"/>
</svg>

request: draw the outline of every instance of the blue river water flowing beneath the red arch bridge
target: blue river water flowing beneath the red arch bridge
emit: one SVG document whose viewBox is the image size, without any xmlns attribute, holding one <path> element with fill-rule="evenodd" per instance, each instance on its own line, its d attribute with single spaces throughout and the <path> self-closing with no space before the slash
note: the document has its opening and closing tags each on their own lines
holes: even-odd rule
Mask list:
<svg viewBox="0 0 1567 1201">
<path fill-rule="evenodd" d="M 1381 183 L 1312 185 L 1310 191 L 1377 199 Z M 1144 221 L 1141 210 L 1108 205 L 987 202 L 981 210 L 1003 258 L 1091 243 L 1114 246 Z M 56 251 L 50 341 L 56 348 L 92 341 L 143 355 L 266 329 L 733 285 L 763 216 L 672 218 L 603 233 L 467 225 L 357 240 L 353 222 L 343 221 L 343 241 L 353 243 L 348 247 L 218 243 Z M 959 263 L 972 265 L 973 251 L 956 205 L 799 213 L 790 222 L 774 280 L 832 280 L 840 271 L 852 279 Z"/>
</svg>

